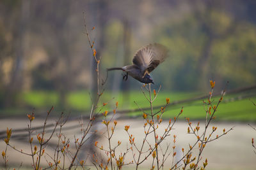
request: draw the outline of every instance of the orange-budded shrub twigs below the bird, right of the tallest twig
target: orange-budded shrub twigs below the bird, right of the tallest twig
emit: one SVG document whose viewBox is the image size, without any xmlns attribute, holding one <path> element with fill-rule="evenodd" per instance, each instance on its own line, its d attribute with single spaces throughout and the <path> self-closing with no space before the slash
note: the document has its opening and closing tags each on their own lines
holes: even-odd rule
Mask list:
<svg viewBox="0 0 256 170">
<path fill-rule="evenodd" d="M 122 166 L 127 164 L 134 164 L 134 168 L 138 169 L 139 166 L 143 162 L 147 162 L 147 164 L 150 165 L 150 169 L 163 169 L 164 162 L 166 162 L 167 159 L 172 160 L 172 164 L 170 169 L 205 169 L 205 167 L 208 164 L 207 159 L 203 159 L 202 153 L 204 151 L 204 148 L 206 145 L 209 145 L 210 142 L 216 141 L 217 139 L 221 138 L 222 136 L 225 136 L 228 132 L 230 132 L 233 128 L 228 129 L 226 131 L 223 129 L 222 134 L 216 134 L 217 127 L 210 127 L 212 121 L 216 117 L 216 111 L 218 110 L 218 106 L 223 100 L 223 96 L 225 94 L 225 90 L 223 90 L 220 99 L 218 102 L 214 102 L 212 99 L 212 94 L 214 92 L 214 85 L 215 82 L 210 81 L 211 84 L 211 92 L 209 92 L 209 97 L 207 101 L 203 101 L 203 104 L 205 106 L 205 124 L 200 129 L 200 122 L 196 125 L 192 125 L 192 123 L 189 121 L 189 118 L 186 118 L 188 122 L 188 134 L 191 134 L 195 136 L 196 141 L 193 144 L 188 145 L 187 149 L 182 148 L 182 157 L 181 158 L 175 158 L 176 153 L 176 138 L 177 135 L 173 134 L 173 143 L 168 143 L 167 146 L 164 148 L 163 141 L 168 138 L 168 136 L 171 136 L 171 132 L 173 131 L 173 127 L 175 126 L 175 123 L 177 122 L 178 118 L 183 112 L 183 108 L 180 109 L 180 112 L 177 113 L 177 117 L 169 120 L 166 127 L 164 127 L 164 131 L 159 131 L 159 127 L 162 126 L 161 124 L 163 122 L 162 116 L 164 114 L 164 111 L 166 110 L 168 104 L 170 103 L 170 98 L 166 98 L 166 104 L 164 104 L 163 107 L 159 108 L 159 110 L 155 111 L 153 110 L 153 102 L 157 98 L 157 94 L 159 93 L 161 87 L 159 87 L 159 90 L 156 92 L 156 90 L 151 90 L 151 85 L 143 85 L 141 87 L 141 90 L 147 99 L 150 110 L 144 111 L 140 106 L 142 117 L 144 120 L 143 129 L 144 129 L 144 136 L 136 139 L 136 137 L 129 131 L 130 125 L 125 125 L 124 131 L 127 133 L 129 138 L 129 145 L 127 146 L 127 150 L 124 151 L 124 154 L 119 155 L 119 159 L 116 158 L 116 148 L 121 145 L 122 141 L 118 141 L 118 145 L 111 146 L 111 137 L 113 136 L 113 133 L 115 131 L 116 127 L 116 120 L 114 121 L 114 126 L 111 127 L 111 134 L 109 136 L 109 124 L 111 124 L 111 120 L 113 120 L 113 117 L 111 117 L 109 120 L 106 120 L 106 112 L 103 113 L 105 119 L 102 120 L 103 124 L 106 125 L 106 131 L 108 132 L 108 136 L 106 138 L 109 141 L 109 148 L 105 149 L 103 146 L 99 145 L 98 141 L 95 142 L 95 146 L 99 148 L 99 150 L 102 150 L 106 153 L 108 156 L 108 161 L 104 164 L 101 163 L 98 164 L 99 167 L 108 169 L 108 165 L 110 162 L 111 169 L 115 169 L 116 167 L 118 169 L 121 169 Z M 148 93 L 148 95 L 147 95 Z M 153 97 L 154 94 L 154 97 Z M 214 134 L 216 136 L 214 136 Z M 150 140 L 150 137 L 153 136 L 154 140 Z M 151 138 L 152 139 L 152 138 Z M 142 140 L 142 141 L 141 141 Z M 141 145 L 140 145 L 141 143 Z M 124 144 L 125 145 L 125 144 Z M 126 144 L 127 145 L 127 144 Z M 112 147 L 112 148 L 111 148 Z M 131 152 L 132 153 L 132 160 L 126 160 L 124 162 L 125 155 Z M 116 164 L 114 165 L 113 159 L 116 160 Z M 99 161 L 98 159 L 95 159 Z M 121 160 L 121 161 L 120 161 Z M 175 161 L 174 161 L 175 160 Z M 204 161 L 203 161 L 204 160 Z M 95 164 L 97 163 L 95 161 Z"/>
</svg>

